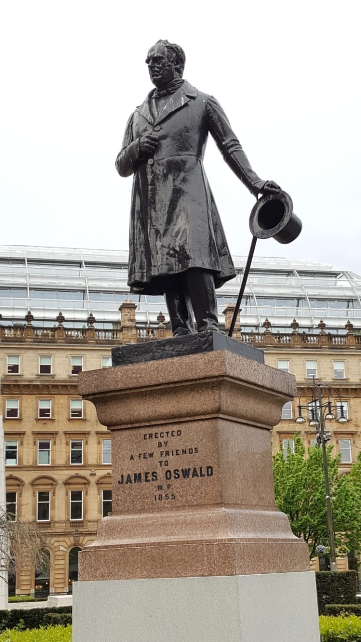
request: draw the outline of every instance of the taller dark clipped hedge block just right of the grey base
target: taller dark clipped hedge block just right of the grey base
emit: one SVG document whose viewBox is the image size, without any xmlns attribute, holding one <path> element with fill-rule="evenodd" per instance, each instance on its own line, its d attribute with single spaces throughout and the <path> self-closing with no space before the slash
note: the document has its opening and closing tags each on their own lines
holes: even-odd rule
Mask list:
<svg viewBox="0 0 361 642">
<path fill-rule="evenodd" d="M 355 604 L 357 571 L 318 571 L 316 587 L 320 615 L 326 604 Z"/>
</svg>

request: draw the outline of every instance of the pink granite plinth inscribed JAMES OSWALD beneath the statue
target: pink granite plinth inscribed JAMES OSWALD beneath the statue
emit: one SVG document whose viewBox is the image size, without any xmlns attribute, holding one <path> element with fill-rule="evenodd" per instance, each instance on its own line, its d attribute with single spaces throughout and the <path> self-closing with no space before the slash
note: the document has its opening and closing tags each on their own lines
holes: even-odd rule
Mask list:
<svg viewBox="0 0 361 642">
<path fill-rule="evenodd" d="M 274 503 L 270 429 L 292 375 L 227 351 L 80 375 L 112 431 L 112 515 L 80 553 L 84 580 L 306 571 Z"/>
</svg>

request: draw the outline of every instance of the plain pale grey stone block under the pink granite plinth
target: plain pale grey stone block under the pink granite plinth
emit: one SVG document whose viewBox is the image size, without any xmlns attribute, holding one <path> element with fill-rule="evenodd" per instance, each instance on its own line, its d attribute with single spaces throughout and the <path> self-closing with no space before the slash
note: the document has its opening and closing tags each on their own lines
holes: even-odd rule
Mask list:
<svg viewBox="0 0 361 642">
<path fill-rule="evenodd" d="M 73 642 L 103 640 L 319 642 L 315 574 L 76 582 Z"/>
</svg>

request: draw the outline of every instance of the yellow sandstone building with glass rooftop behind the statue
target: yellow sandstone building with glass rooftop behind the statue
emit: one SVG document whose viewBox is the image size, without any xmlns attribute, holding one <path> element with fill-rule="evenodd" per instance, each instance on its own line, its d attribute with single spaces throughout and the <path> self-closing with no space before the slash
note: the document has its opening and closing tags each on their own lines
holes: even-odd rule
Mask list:
<svg viewBox="0 0 361 642">
<path fill-rule="evenodd" d="M 235 265 L 236 279 L 217 291 L 225 328 L 245 259 Z M 170 336 L 163 297 L 130 297 L 126 282 L 126 252 L 0 247 L 6 503 L 11 514 L 37 522 L 49 547 L 49 568 L 22 568 L 10 578 L 10 593 L 71 591 L 78 550 L 111 510 L 110 433 L 77 395 L 78 373 L 109 367 L 112 345 Z M 299 393 L 313 376 L 337 389 L 349 421 L 328 430 L 341 472 L 361 448 L 360 297 L 361 277 L 353 273 L 256 258 L 234 333 L 263 349 L 268 365 L 292 372 Z M 283 408 L 275 451 L 293 446 L 296 429 L 306 446 L 315 444 L 312 428 L 295 424 L 296 406 Z M 339 560 L 340 569 L 347 566 Z"/>
</svg>

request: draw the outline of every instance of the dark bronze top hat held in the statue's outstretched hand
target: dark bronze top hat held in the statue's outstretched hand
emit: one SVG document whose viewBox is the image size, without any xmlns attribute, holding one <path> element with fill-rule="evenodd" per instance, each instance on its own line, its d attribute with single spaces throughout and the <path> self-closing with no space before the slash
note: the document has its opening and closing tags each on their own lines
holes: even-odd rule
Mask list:
<svg viewBox="0 0 361 642">
<path fill-rule="evenodd" d="M 292 243 L 302 229 L 293 212 L 291 197 L 283 191 L 261 196 L 252 207 L 249 229 L 258 239 L 274 238 L 279 243 Z"/>
</svg>

